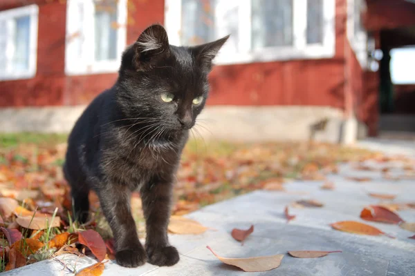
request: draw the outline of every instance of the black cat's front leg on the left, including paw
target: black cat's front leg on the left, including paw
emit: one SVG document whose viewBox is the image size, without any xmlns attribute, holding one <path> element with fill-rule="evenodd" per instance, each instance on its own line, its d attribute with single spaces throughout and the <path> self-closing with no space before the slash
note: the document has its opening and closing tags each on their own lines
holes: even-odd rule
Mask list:
<svg viewBox="0 0 415 276">
<path fill-rule="evenodd" d="M 131 191 L 126 186 L 107 184 L 98 192 L 102 211 L 113 232 L 116 260 L 120 266 L 137 267 L 147 261 L 131 215 Z"/>
</svg>

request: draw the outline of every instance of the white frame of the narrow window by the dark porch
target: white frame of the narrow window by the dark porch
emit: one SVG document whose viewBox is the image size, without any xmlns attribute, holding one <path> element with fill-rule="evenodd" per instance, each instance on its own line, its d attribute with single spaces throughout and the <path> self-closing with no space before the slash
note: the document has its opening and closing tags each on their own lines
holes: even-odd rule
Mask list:
<svg viewBox="0 0 415 276">
<path fill-rule="evenodd" d="M 347 39 L 349 39 L 350 46 L 356 54 L 356 58 L 360 63 L 360 67 L 363 70 L 368 68 L 367 60 L 367 43 L 368 37 L 367 32 L 360 30 L 355 34 L 354 21 L 356 17 L 360 17 L 360 14 L 355 14 L 354 5 L 357 0 L 347 0 Z M 365 0 L 360 0 L 365 5 Z M 363 6 L 365 8 L 365 6 Z"/>
</svg>

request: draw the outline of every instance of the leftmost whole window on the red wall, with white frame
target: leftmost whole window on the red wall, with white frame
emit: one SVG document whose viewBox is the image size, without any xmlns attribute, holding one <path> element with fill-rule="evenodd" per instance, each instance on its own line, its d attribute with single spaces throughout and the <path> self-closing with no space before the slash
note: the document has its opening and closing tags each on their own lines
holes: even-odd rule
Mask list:
<svg viewBox="0 0 415 276">
<path fill-rule="evenodd" d="M 36 75 L 36 5 L 0 12 L 0 80 Z"/>
</svg>

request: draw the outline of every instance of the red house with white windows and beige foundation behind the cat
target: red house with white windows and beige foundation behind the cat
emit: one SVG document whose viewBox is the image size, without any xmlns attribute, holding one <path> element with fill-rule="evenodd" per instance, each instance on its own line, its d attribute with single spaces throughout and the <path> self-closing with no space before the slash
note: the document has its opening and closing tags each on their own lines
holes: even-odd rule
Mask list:
<svg viewBox="0 0 415 276">
<path fill-rule="evenodd" d="M 352 142 L 361 130 L 377 135 L 389 50 L 415 45 L 411 2 L 2 0 L 0 129 L 71 130 L 116 81 L 125 46 L 159 22 L 174 45 L 231 34 L 210 75 L 203 136 Z"/>
</svg>

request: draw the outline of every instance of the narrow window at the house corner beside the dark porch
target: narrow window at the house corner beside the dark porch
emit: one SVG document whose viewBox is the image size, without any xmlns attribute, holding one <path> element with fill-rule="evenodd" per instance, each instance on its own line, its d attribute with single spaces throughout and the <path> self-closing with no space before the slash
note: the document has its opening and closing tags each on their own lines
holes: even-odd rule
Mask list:
<svg viewBox="0 0 415 276">
<path fill-rule="evenodd" d="M 356 53 L 356 57 L 363 69 L 367 69 L 367 32 L 363 28 L 361 12 L 365 8 L 363 0 L 348 0 L 348 23 L 347 37 L 351 48 Z"/>
</svg>

